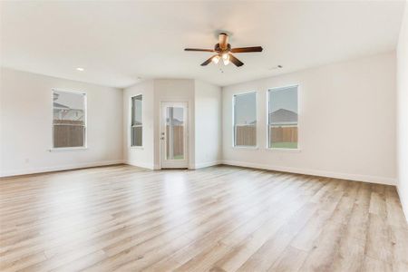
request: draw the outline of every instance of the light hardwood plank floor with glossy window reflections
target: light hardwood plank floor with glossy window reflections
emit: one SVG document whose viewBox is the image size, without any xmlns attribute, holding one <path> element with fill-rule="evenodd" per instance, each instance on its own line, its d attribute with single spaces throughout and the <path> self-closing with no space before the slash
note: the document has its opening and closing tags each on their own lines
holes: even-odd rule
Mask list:
<svg viewBox="0 0 408 272">
<path fill-rule="evenodd" d="M 392 186 L 235 167 L 0 180 L 1 271 L 408 271 Z"/>
</svg>

